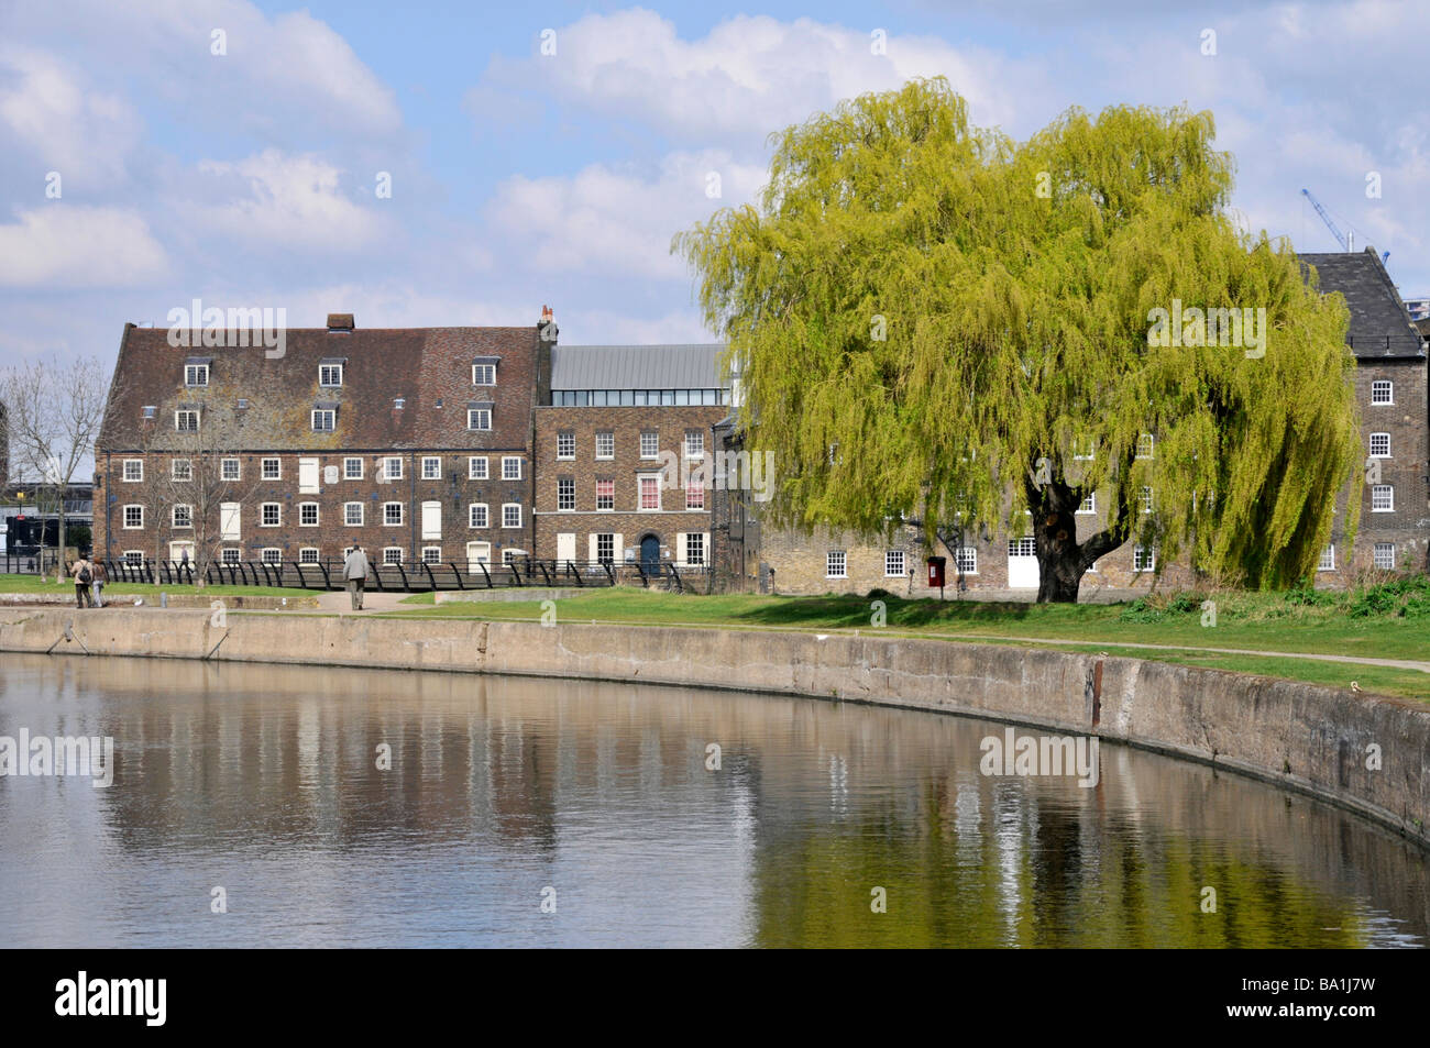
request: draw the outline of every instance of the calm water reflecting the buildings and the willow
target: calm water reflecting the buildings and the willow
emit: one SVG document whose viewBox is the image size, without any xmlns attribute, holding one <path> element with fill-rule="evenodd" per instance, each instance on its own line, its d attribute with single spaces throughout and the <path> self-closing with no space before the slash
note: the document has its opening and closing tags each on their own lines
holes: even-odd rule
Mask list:
<svg viewBox="0 0 1430 1048">
<path fill-rule="evenodd" d="M 0 778 L 0 946 L 1427 941 L 1426 856 L 1351 815 L 1117 746 L 1094 789 L 987 778 L 1002 726 L 931 713 L 6 655 L 20 728 L 117 772 Z"/>
</svg>

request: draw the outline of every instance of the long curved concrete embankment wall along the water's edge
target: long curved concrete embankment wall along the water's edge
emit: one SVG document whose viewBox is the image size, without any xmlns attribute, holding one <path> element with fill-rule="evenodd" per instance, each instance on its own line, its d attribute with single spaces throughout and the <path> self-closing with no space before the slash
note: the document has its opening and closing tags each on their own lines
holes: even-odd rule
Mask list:
<svg viewBox="0 0 1430 1048">
<path fill-rule="evenodd" d="M 66 638 L 66 629 L 73 639 Z M 1091 733 L 1270 779 L 1430 845 L 1430 706 L 1270 678 L 877 635 L 0 609 L 0 651 L 781 692 Z M 1369 768 L 1379 746 L 1380 768 Z"/>
</svg>

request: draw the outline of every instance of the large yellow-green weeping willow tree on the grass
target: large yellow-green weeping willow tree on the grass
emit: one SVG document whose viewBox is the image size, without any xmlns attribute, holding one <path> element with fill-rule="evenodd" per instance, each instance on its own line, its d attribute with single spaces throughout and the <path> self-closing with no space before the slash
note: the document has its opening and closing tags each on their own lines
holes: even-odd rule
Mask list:
<svg viewBox="0 0 1430 1048">
<path fill-rule="evenodd" d="M 1360 505 L 1348 313 L 1230 217 L 1213 137 L 1113 107 L 1017 143 L 942 79 L 776 134 L 759 206 L 672 243 L 775 452 L 772 523 L 1031 529 L 1040 600 L 1130 539 L 1227 585 L 1314 570 Z"/>
</svg>

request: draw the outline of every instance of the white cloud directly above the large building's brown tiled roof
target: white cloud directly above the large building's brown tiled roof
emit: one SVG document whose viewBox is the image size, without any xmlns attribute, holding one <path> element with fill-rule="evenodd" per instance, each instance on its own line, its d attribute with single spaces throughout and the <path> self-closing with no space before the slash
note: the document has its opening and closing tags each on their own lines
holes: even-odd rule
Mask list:
<svg viewBox="0 0 1430 1048">
<path fill-rule="evenodd" d="M 232 193 L 225 203 L 180 207 L 213 237 L 327 253 L 365 247 L 390 232 L 383 217 L 343 194 L 342 172 L 315 156 L 267 149 L 233 163 L 203 160 L 199 172 Z"/>
</svg>

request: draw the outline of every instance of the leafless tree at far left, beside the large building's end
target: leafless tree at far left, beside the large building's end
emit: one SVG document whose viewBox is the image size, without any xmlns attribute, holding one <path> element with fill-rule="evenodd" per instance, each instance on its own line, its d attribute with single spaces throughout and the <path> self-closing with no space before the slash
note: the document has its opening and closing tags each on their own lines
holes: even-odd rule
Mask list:
<svg viewBox="0 0 1430 1048">
<path fill-rule="evenodd" d="M 59 518 L 56 582 L 64 576 L 64 496 L 76 475 L 93 470 L 94 438 L 104 417 L 109 367 L 97 357 L 49 357 L 6 369 L 0 399 L 9 407 L 17 472 L 53 500 Z"/>
</svg>

